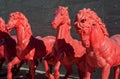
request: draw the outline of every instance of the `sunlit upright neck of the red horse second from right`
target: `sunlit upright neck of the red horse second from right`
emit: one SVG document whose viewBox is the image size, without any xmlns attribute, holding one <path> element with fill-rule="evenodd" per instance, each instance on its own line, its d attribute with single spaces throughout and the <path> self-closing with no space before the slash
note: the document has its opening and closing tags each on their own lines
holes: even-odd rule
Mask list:
<svg viewBox="0 0 120 79">
<path fill-rule="evenodd" d="M 60 25 L 57 31 L 57 39 L 70 40 L 71 38 L 70 25 L 68 23 Z"/>
</svg>

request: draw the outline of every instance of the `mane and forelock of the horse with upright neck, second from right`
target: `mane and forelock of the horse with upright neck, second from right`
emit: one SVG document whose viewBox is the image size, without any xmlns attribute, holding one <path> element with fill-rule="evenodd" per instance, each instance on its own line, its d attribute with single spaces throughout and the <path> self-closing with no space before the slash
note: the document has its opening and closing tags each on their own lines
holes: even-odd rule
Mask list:
<svg viewBox="0 0 120 79">
<path fill-rule="evenodd" d="M 69 18 L 69 13 L 68 13 L 68 7 L 63 7 L 63 6 L 58 6 L 58 9 L 55 11 L 55 14 L 61 12 L 62 15 L 64 15 L 65 17 L 67 17 L 68 19 L 66 21 L 68 21 L 68 25 L 70 25 L 70 18 Z"/>
</svg>

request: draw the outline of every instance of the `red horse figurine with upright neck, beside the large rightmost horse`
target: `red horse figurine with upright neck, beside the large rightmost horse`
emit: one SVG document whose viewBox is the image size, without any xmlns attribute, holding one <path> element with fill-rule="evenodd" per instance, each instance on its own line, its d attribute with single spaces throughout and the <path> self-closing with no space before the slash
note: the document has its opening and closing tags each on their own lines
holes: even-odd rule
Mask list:
<svg viewBox="0 0 120 79">
<path fill-rule="evenodd" d="M 59 79 L 59 68 L 63 64 L 67 69 L 64 79 L 67 79 L 72 74 L 72 65 L 76 64 L 79 72 L 84 72 L 84 54 L 85 48 L 81 41 L 73 39 L 70 34 L 70 18 L 68 8 L 59 6 L 55 11 L 55 17 L 52 21 L 52 28 L 58 29 L 56 35 L 56 42 L 54 45 L 54 55 L 56 58 L 56 65 L 54 68 L 54 77 Z M 82 74 L 79 75 L 82 78 Z"/>
</svg>

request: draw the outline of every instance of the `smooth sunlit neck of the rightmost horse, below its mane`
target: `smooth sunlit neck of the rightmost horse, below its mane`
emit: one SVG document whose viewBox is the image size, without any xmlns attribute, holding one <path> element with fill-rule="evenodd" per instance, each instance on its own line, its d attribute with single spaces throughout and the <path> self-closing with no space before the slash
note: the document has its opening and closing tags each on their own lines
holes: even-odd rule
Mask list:
<svg viewBox="0 0 120 79">
<path fill-rule="evenodd" d="M 92 29 L 91 36 L 90 36 L 90 44 L 91 47 L 94 49 L 100 48 L 101 44 L 105 41 L 105 36 L 102 30 L 99 28 Z"/>
</svg>

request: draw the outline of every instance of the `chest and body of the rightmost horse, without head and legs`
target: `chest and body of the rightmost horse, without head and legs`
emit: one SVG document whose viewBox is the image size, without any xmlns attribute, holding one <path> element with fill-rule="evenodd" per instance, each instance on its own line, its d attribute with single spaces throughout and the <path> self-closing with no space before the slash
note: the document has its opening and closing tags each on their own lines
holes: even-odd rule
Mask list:
<svg viewBox="0 0 120 79">
<path fill-rule="evenodd" d="M 120 58 L 120 53 L 117 52 L 119 52 L 120 46 L 114 40 L 109 39 L 108 37 L 106 37 L 104 42 L 102 42 L 101 44 L 102 45 L 99 48 L 96 47 L 94 48 L 94 50 L 92 51 L 92 55 L 91 54 L 86 55 L 88 56 L 87 61 L 88 63 L 90 62 L 89 63 L 90 66 L 101 68 L 104 67 L 106 64 L 110 64 L 111 66 L 119 65 L 120 60 L 118 59 Z"/>
</svg>

